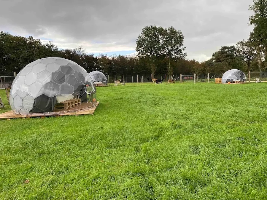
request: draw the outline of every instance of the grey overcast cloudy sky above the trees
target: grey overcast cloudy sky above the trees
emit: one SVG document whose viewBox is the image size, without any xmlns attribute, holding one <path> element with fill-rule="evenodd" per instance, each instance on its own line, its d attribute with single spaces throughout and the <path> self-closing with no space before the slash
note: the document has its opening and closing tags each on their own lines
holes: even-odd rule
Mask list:
<svg viewBox="0 0 267 200">
<path fill-rule="evenodd" d="M 134 54 L 147 25 L 173 26 L 187 58 L 204 61 L 221 46 L 247 39 L 252 0 L 0 0 L 0 31 L 53 41 L 59 48 Z"/>
</svg>

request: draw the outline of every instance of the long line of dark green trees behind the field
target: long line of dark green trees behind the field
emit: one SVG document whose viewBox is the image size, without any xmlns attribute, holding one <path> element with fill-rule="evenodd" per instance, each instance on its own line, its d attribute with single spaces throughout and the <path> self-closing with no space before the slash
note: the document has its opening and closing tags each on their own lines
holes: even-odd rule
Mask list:
<svg viewBox="0 0 267 200">
<path fill-rule="evenodd" d="M 102 71 L 110 76 L 139 74 L 159 78 L 162 74 L 221 74 L 229 69 L 267 70 L 267 1 L 254 0 L 249 7 L 253 31 L 234 46 L 223 46 L 205 62 L 188 60 L 184 36 L 174 27 L 146 26 L 136 39 L 135 56 L 87 54 L 83 47 L 59 49 L 52 41 L 42 44 L 33 37 L 13 36 L 0 32 L 0 75 L 13 75 L 28 63 L 44 57 L 63 57 L 81 65 L 87 72 Z"/>
</svg>

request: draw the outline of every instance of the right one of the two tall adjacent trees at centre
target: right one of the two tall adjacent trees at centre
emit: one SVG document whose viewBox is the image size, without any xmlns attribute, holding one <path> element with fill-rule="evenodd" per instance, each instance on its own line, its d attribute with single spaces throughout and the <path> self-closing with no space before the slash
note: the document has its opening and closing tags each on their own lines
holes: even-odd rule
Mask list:
<svg viewBox="0 0 267 200">
<path fill-rule="evenodd" d="M 186 54 L 184 53 L 185 48 L 183 45 L 184 36 L 181 31 L 176 30 L 174 27 L 165 28 L 163 31 L 163 50 L 164 54 L 167 55 L 169 59 L 168 74 L 169 79 L 173 75 L 173 67 L 171 66 L 171 58 L 184 58 Z"/>
</svg>

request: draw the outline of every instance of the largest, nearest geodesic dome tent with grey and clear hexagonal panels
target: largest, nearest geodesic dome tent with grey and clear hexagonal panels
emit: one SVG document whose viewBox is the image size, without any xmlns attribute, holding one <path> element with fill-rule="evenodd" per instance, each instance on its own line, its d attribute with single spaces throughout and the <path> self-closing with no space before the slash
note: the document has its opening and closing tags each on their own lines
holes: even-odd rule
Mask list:
<svg viewBox="0 0 267 200">
<path fill-rule="evenodd" d="M 80 99 L 82 106 L 96 106 L 96 88 L 88 73 L 77 63 L 60 57 L 47 57 L 26 65 L 10 89 L 10 105 L 15 113 L 54 113 L 57 103 Z M 72 109 L 74 111 L 75 109 Z M 66 112 L 66 111 L 63 111 Z"/>
</svg>

